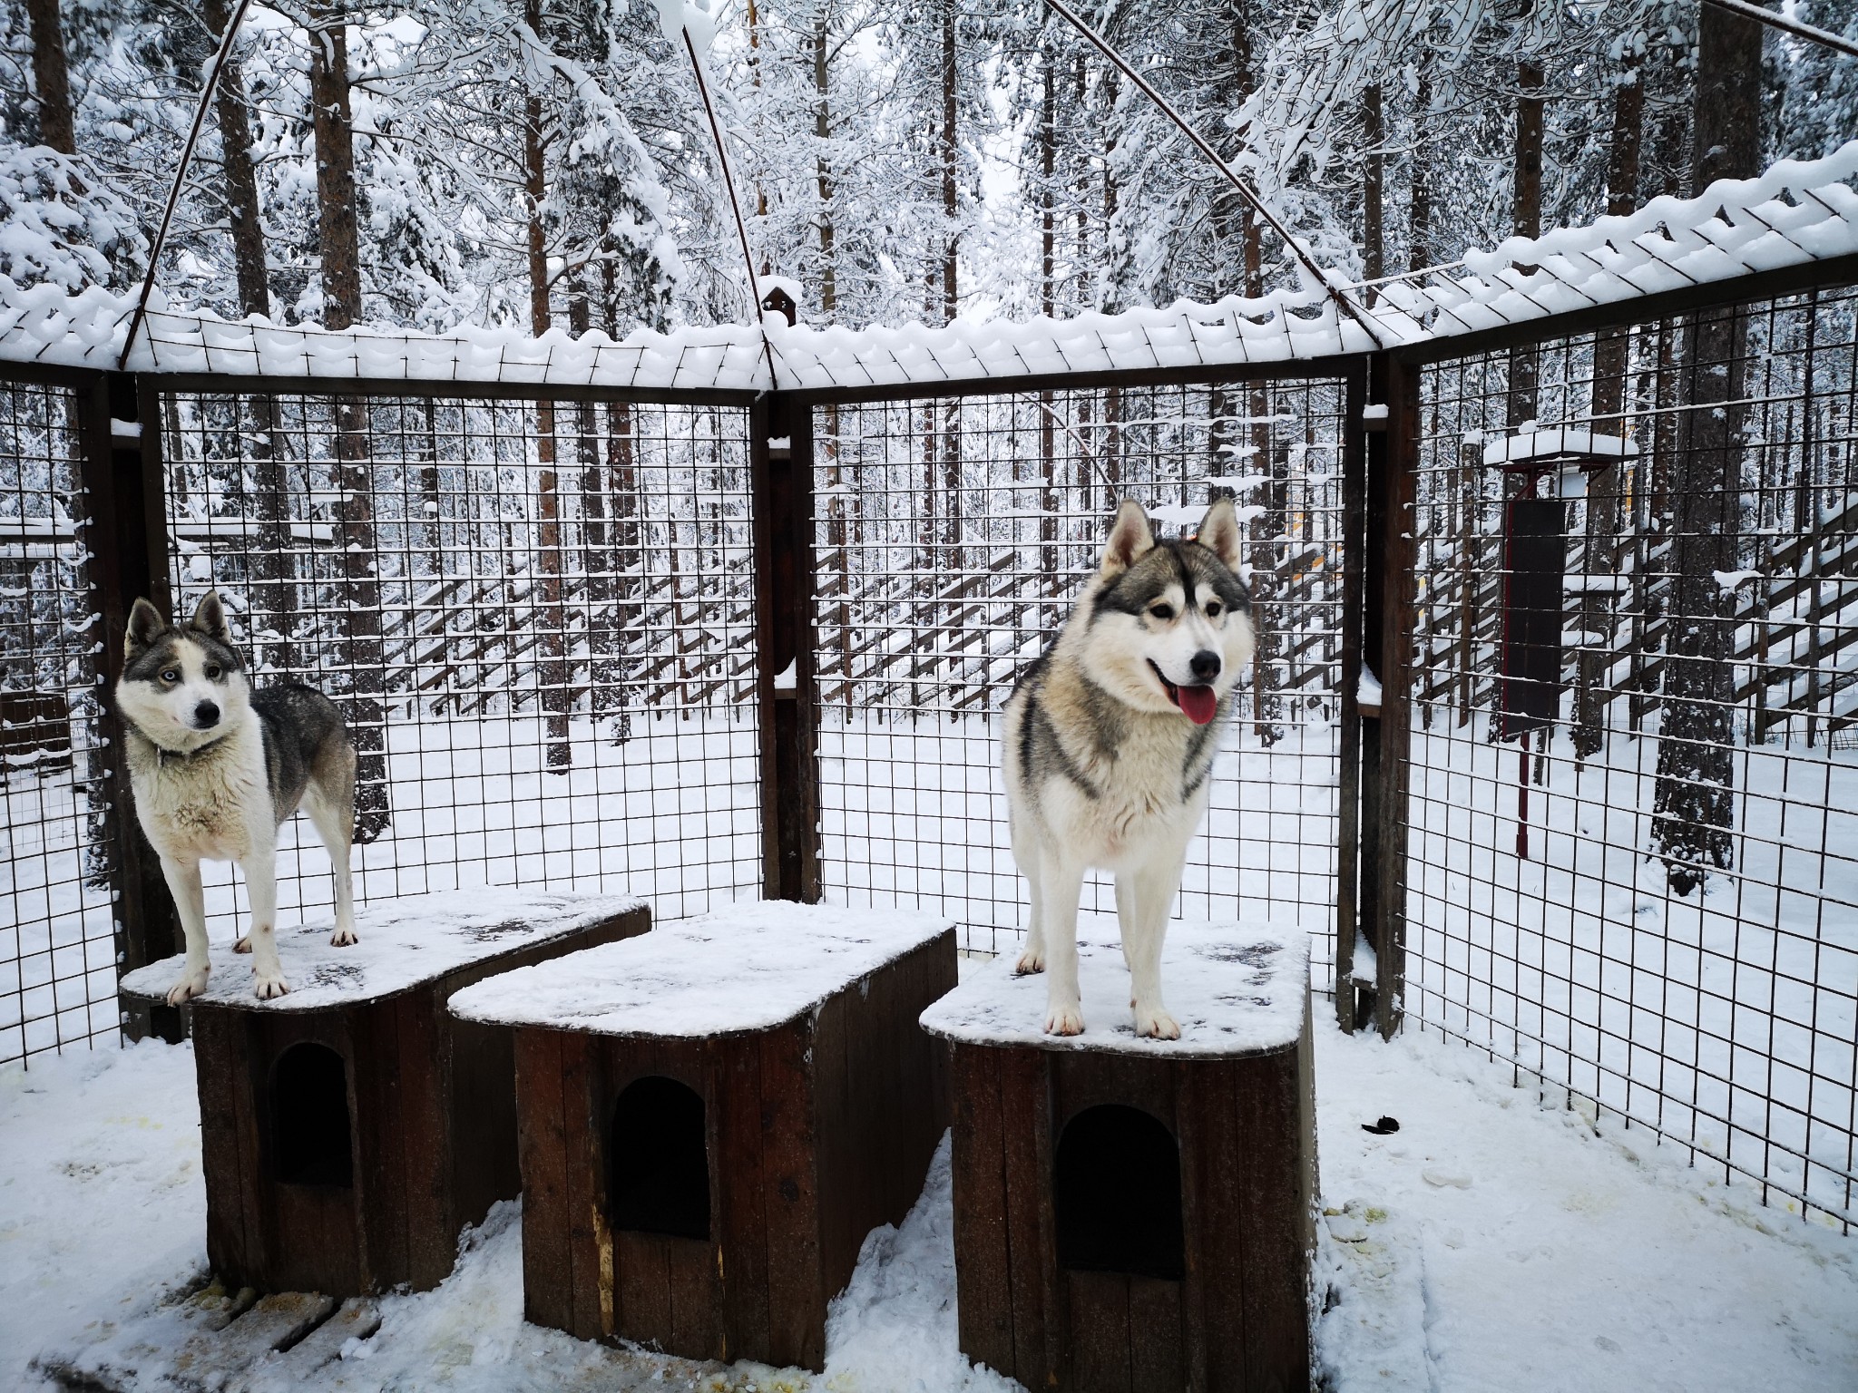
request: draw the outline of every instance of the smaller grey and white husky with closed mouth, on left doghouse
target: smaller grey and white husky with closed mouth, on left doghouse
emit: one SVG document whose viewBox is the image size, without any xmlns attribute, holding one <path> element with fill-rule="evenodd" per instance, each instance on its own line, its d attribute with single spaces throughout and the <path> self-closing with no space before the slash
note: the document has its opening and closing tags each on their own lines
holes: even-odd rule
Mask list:
<svg viewBox="0 0 1858 1393">
<path fill-rule="evenodd" d="M 225 607 L 208 592 L 193 618 L 169 628 L 147 600 L 128 617 L 117 711 L 128 730 L 136 815 L 162 858 L 188 958 L 167 994 L 178 1007 L 206 990 L 203 860 L 245 873 L 251 953 L 260 997 L 290 990 L 277 960 L 277 828 L 301 806 L 336 871 L 336 932 L 355 942 L 349 840 L 355 830 L 355 745 L 336 704 L 314 687 L 251 691 Z"/>
</svg>

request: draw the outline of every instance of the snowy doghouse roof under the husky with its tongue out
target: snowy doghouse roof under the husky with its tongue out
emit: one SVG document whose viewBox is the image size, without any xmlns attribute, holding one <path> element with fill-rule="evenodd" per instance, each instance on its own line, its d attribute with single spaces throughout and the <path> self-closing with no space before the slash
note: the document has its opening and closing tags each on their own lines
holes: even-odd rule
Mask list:
<svg viewBox="0 0 1858 1393">
<path fill-rule="evenodd" d="M 1078 916 L 1083 1035 L 1046 1035 L 1046 979 L 1014 975 L 1013 955 L 972 971 L 923 1012 L 923 1029 L 957 1044 L 1089 1049 L 1167 1059 L 1258 1055 L 1297 1044 L 1310 990 L 1310 934 L 1293 925 L 1171 923 L 1161 996 L 1180 1040 L 1135 1035 L 1122 936 L 1107 914 Z"/>
</svg>

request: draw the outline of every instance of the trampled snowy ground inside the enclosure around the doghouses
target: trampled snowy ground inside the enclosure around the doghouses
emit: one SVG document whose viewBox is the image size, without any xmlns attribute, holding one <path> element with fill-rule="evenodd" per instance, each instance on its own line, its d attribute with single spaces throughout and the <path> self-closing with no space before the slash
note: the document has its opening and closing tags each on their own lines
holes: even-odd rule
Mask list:
<svg viewBox="0 0 1858 1393">
<path fill-rule="evenodd" d="M 1436 1036 L 1317 1025 L 1330 1393 L 1858 1387 L 1858 1241 L 1756 1205 L 1642 1131 Z M 1399 1120 L 1392 1135 L 1364 1122 Z M 204 1270 L 193 1057 L 141 1044 L 0 1072 L 0 1384 Z M 834 1304 L 827 1373 L 715 1369 L 522 1322 L 520 1205 L 312 1389 L 1005 1389 L 955 1348 L 946 1153 Z M 268 1387 L 264 1369 L 255 1387 Z"/>
</svg>

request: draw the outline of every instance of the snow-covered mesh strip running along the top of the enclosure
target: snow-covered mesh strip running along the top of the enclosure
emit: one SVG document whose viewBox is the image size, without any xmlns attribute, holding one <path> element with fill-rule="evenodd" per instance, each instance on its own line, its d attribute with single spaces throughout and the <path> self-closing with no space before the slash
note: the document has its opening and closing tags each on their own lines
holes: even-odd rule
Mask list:
<svg viewBox="0 0 1858 1393">
<path fill-rule="evenodd" d="M 1315 360 L 1852 256 L 1854 182 L 1858 141 L 1823 160 L 1782 160 L 1760 178 L 1721 180 L 1694 199 L 1654 199 L 1626 217 L 1511 238 L 1494 251 L 1371 288 L 1345 286 L 1373 321 L 1373 336 L 1321 286 L 1024 323 L 814 329 L 771 316 L 765 342 L 751 325 L 637 331 L 613 342 L 600 332 L 530 338 L 517 329 L 476 327 L 444 334 L 325 331 L 154 308 L 126 366 L 331 383 L 764 392 L 1009 384 L 1061 373 Z M 54 284 L 20 290 L 0 277 L 0 360 L 115 368 L 132 308 L 130 297 L 100 288 L 69 295 Z"/>
</svg>

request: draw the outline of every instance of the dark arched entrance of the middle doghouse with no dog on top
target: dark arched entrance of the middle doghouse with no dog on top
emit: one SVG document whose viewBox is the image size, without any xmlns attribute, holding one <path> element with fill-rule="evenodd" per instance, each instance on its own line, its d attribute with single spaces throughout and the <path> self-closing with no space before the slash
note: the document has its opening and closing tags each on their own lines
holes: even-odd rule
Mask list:
<svg viewBox="0 0 1858 1393">
<path fill-rule="evenodd" d="M 608 1222 L 634 1233 L 710 1237 L 702 1098 L 676 1079 L 626 1085 L 613 1105 Z"/>
</svg>

